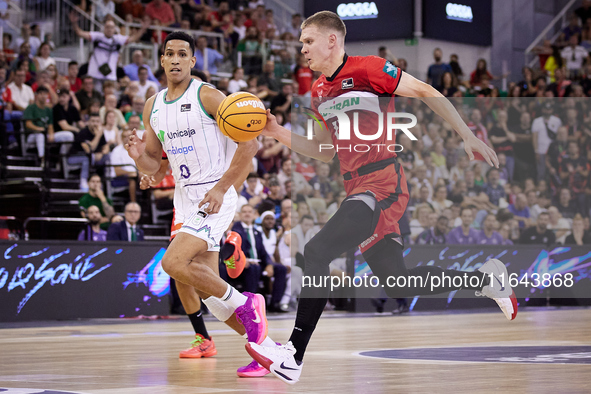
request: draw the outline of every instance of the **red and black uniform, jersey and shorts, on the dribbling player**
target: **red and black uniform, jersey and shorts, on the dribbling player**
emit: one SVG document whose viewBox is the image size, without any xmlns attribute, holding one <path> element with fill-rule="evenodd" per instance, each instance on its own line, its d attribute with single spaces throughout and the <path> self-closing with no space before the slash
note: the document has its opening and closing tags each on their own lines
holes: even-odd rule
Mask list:
<svg viewBox="0 0 591 394">
<path fill-rule="evenodd" d="M 331 77 L 323 75 L 312 86 L 312 108 L 324 117 L 328 125 L 341 174 L 355 173 L 362 166 L 396 157 L 396 153 L 387 149 L 395 144 L 396 136 L 393 132 L 388 139 L 386 114 L 396 112 L 392 96 L 401 75 L 402 71 L 385 59 L 345 55 L 343 64 Z M 379 100 L 382 97 L 390 99 Z M 339 131 L 337 116 L 331 114 L 331 109 L 334 111 L 335 108 L 345 112 L 349 118 L 351 130 L 348 139 L 344 139 L 342 130 Z M 353 130 L 355 113 L 361 137 Z M 378 116 L 383 116 L 383 131 L 379 137 Z M 355 146 L 363 149 L 355 150 Z M 366 146 L 371 149 L 364 152 Z M 373 234 L 359 245 L 361 252 L 365 253 L 386 236 L 399 236 L 398 220 L 406 209 L 409 195 L 404 171 L 398 163 L 345 180 L 345 190 L 348 196 L 370 192 L 380 208 L 376 210 L 379 218 Z"/>
</svg>

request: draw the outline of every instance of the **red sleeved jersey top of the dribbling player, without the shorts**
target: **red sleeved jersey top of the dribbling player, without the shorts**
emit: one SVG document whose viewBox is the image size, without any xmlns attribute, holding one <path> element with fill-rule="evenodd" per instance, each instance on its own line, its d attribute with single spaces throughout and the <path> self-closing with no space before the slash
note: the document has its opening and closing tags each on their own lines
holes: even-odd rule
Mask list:
<svg viewBox="0 0 591 394">
<path fill-rule="evenodd" d="M 378 100 L 381 97 L 392 97 L 400 83 L 401 70 L 377 56 L 347 56 L 343 64 L 331 77 L 322 75 L 312 86 L 312 108 L 325 117 L 332 135 L 333 145 L 341 165 L 341 173 L 353 172 L 359 167 L 380 160 L 395 157 L 389 152 L 387 145 L 395 143 L 395 136 L 387 139 L 387 112 L 394 111 L 394 99 Z M 326 112 L 340 105 L 346 111 L 351 122 L 350 139 L 338 138 L 338 122 L 336 117 L 326 118 Z M 345 110 L 347 108 L 347 110 Z M 350 108 L 350 112 L 349 112 Z M 361 139 L 353 131 L 353 112 L 359 115 L 359 132 L 365 136 L 375 135 L 379 128 L 378 112 L 384 117 L 384 131 L 377 139 Z M 369 137 L 368 137 L 369 138 Z M 373 147 L 368 152 L 355 151 L 356 145 L 383 144 Z M 360 149 L 363 150 L 363 149 Z M 392 149 L 393 150 L 393 149 Z"/>
</svg>

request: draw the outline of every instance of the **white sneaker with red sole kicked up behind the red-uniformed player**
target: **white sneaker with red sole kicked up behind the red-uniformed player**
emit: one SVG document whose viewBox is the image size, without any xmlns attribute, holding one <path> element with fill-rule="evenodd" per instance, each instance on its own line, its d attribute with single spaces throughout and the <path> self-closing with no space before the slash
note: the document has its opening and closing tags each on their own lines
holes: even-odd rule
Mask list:
<svg viewBox="0 0 591 394">
<path fill-rule="evenodd" d="M 497 302 L 507 319 L 515 319 L 517 316 L 517 298 L 513 288 L 509 285 L 509 274 L 505 264 L 497 259 L 488 260 L 482 267 L 478 268 L 478 271 L 484 272 L 490 282 L 482 288 L 482 291 L 477 291 L 476 295 L 492 298 Z"/>
</svg>

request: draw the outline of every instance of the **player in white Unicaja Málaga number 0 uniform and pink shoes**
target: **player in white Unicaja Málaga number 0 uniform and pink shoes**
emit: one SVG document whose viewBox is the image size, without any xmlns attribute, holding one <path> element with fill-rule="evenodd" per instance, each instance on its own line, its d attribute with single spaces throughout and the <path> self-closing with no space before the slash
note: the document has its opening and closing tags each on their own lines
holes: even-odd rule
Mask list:
<svg viewBox="0 0 591 394">
<path fill-rule="evenodd" d="M 275 346 L 267 337 L 264 298 L 238 292 L 218 273 L 219 242 L 236 210 L 233 185 L 246 178 L 257 143 L 239 143 L 226 166 L 232 142 L 214 118 L 225 96 L 191 78 L 194 51 L 192 36 L 176 31 L 166 37 L 160 61 L 168 88 L 146 102 L 146 131 L 140 138 L 133 130 L 125 147 L 138 170 L 148 176 L 159 171 L 163 150 L 172 167 L 174 206 L 183 226 L 168 247 L 162 268 L 177 283 L 195 288 L 211 313 L 249 342 Z"/>
</svg>

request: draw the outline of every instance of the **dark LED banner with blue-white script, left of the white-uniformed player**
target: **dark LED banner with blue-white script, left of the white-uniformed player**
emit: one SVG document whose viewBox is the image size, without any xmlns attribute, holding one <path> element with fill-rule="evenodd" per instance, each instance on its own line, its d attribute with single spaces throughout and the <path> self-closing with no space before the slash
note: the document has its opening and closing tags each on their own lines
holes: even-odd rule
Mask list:
<svg viewBox="0 0 591 394">
<path fill-rule="evenodd" d="M 0 322 L 167 315 L 166 246 L 0 241 Z"/>
</svg>

